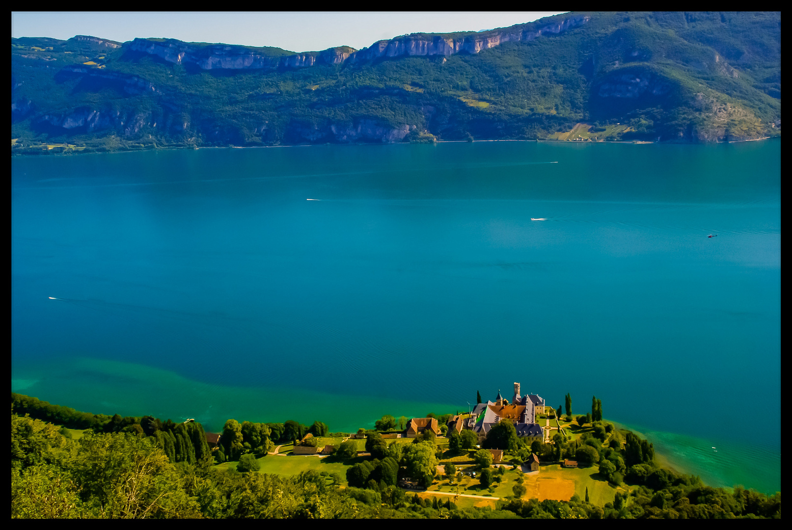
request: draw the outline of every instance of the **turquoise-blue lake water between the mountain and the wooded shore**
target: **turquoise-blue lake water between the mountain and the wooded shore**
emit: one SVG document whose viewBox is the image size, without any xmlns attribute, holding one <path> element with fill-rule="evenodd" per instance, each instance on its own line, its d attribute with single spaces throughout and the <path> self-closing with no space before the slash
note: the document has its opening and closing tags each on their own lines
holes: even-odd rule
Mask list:
<svg viewBox="0 0 792 530">
<path fill-rule="evenodd" d="M 780 148 L 15 157 L 12 389 L 352 430 L 520 381 L 780 490 Z"/>
</svg>

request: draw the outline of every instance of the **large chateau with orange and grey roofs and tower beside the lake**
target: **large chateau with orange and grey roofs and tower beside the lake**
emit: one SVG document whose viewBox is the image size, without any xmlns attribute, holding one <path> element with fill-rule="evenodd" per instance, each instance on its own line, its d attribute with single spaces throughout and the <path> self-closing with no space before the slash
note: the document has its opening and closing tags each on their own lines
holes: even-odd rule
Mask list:
<svg viewBox="0 0 792 530">
<path fill-rule="evenodd" d="M 487 401 L 476 405 L 473 415 L 478 420 L 472 428 L 478 440 L 482 441 L 494 425 L 506 420 L 514 424 L 517 436 L 543 441 L 544 433 L 536 418 L 544 413 L 545 400 L 535 394 L 520 396 L 520 383 L 515 383 L 511 403 L 501 396 L 499 390 L 494 403 Z"/>
</svg>

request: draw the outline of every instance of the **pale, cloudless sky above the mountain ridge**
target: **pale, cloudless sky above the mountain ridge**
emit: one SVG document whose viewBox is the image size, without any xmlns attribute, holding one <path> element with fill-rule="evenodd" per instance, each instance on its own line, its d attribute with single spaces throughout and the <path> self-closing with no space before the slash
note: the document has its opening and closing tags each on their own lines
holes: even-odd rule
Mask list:
<svg viewBox="0 0 792 530">
<path fill-rule="evenodd" d="M 558 13 L 564 12 L 12 12 L 11 36 L 67 40 L 75 35 L 90 35 L 119 42 L 135 37 L 166 37 L 319 51 L 334 46 L 360 49 L 377 40 L 413 32 L 504 28 Z"/>
</svg>

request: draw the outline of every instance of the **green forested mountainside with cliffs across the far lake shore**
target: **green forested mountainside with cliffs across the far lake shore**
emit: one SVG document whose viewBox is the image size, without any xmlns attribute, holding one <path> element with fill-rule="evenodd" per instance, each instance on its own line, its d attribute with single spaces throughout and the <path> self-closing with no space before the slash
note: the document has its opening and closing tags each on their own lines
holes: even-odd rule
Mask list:
<svg viewBox="0 0 792 530">
<path fill-rule="evenodd" d="M 780 13 L 676 12 L 565 13 L 360 51 L 12 39 L 12 150 L 545 139 L 576 123 L 598 139 L 762 138 L 780 134 L 780 35 Z"/>
</svg>

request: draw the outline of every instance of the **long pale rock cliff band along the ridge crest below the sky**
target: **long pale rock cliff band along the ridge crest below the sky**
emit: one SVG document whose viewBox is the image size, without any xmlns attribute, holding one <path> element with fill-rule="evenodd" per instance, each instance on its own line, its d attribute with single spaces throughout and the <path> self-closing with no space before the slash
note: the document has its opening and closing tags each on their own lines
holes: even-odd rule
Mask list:
<svg viewBox="0 0 792 530">
<path fill-rule="evenodd" d="M 350 47 L 333 47 L 324 51 L 273 56 L 244 46 L 197 45 L 174 39 L 163 41 L 135 39 L 129 44 L 129 49 L 156 55 L 160 59 L 175 64 L 198 66 L 202 70 L 303 68 L 318 64 L 341 64 L 347 61 L 365 62 L 372 59 L 413 55 L 449 57 L 456 53 L 475 54 L 505 42 L 534 40 L 539 36 L 562 33 L 584 25 L 590 18 L 588 15 L 575 15 L 539 28 L 535 28 L 534 25 L 516 25 L 457 38 L 443 35 L 406 35 L 390 40 L 379 40 L 360 51 L 355 51 Z"/>
</svg>

